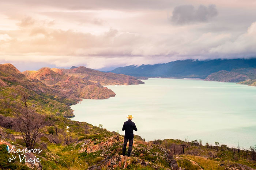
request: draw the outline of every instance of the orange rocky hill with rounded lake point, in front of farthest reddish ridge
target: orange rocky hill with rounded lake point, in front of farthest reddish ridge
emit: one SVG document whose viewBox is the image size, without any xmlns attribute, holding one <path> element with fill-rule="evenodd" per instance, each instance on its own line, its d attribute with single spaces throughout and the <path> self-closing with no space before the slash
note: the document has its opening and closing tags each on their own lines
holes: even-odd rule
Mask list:
<svg viewBox="0 0 256 170">
<path fill-rule="evenodd" d="M 38 79 L 49 87 L 58 89 L 67 95 L 75 95 L 84 99 L 106 99 L 115 96 L 115 93 L 101 86 L 100 84 L 88 80 L 68 76 L 57 68 L 41 68 L 38 71 L 23 72 L 30 79 Z"/>
</svg>

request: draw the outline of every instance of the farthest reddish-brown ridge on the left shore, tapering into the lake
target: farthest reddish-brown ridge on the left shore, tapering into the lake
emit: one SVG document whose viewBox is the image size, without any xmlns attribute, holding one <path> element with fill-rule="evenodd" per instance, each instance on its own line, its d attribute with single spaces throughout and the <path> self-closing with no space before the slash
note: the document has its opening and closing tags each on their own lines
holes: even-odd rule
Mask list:
<svg viewBox="0 0 256 170">
<path fill-rule="evenodd" d="M 72 68 L 72 67 L 71 67 Z M 115 74 L 112 72 L 102 72 L 93 70 L 83 66 L 73 67 L 72 69 L 61 69 L 69 76 L 79 77 L 90 82 L 99 83 L 104 85 L 130 85 L 130 84 L 143 84 L 141 80 L 133 76 Z"/>
</svg>

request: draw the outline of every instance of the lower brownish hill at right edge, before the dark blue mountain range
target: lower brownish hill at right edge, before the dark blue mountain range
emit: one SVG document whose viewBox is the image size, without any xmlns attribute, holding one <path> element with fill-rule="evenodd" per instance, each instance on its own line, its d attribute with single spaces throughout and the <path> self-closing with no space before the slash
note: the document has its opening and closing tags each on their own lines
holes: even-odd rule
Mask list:
<svg viewBox="0 0 256 170">
<path fill-rule="evenodd" d="M 207 81 L 243 82 L 256 79 L 256 68 L 238 68 L 231 71 L 221 70 L 207 76 Z"/>
</svg>

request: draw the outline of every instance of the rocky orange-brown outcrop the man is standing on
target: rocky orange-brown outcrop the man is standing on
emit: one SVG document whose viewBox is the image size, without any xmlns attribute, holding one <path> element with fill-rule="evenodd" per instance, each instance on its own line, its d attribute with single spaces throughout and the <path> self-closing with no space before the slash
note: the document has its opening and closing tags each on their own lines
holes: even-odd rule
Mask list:
<svg viewBox="0 0 256 170">
<path fill-rule="evenodd" d="M 121 155 L 123 139 L 124 138 L 120 135 L 113 135 L 109 138 L 103 139 L 103 141 L 102 139 L 84 139 L 83 141 L 76 143 L 76 145 L 81 146 L 79 153 L 97 153 L 102 158 L 102 161 L 98 162 L 96 165 L 90 166 L 88 168 L 89 170 L 97 170 L 102 168 L 129 169 L 129 167 L 133 167 L 136 169 L 136 167 L 134 166 L 149 166 L 153 169 L 161 169 L 162 167 L 155 162 L 158 162 L 159 160 L 168 160 L 166 149 L 162 149 L 152 143 L 140 141 L 138 139 L 134 139 L 131 157 L 123 156 Z M 144 159 L 147 157 L 151 157 L 149 155 L 152 156 L 151 159 L 154 159 L 153 162 Z M 168 162 L 170 163 L 170 161 Z"/>
</svg>

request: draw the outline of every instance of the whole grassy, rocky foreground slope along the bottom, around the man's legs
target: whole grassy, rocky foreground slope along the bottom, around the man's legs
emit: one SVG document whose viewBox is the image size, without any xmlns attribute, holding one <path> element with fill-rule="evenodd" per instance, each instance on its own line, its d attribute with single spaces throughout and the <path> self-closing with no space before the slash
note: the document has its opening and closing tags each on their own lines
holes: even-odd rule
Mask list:
<svg viewBox="0 0 256 170">
<path fill-rule="evenodd" d="M 174 139 L 143 141 L 135 136 L 131 157 L 122 156 L 123 135 L 76 122 L 66 118 L 52 117 L 52 125 L 44 127 L 37 156 L 40 163 L 8 162 L 10 154 L 6 146 L 22 148 L 20 133 L 12 127 L 0 126 L 0 168 L 39 170 L 255 170 L 253 150 L 229 148 L 226 145 L 202 145 L 202 141 Z M 1 120 L 1 116 L 0 116 Z M 69 127 L 66 132 L 66 127 Z M 56 130 L 57 129 L 57 130 Z M 44 147 L 42 147 L 44 146 Z M 256 146 L 255 146 L 256 149 Z M 17 156 L 17 155 L 16 155 Z"/>
</svg>

